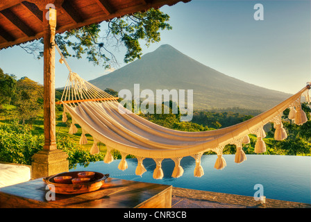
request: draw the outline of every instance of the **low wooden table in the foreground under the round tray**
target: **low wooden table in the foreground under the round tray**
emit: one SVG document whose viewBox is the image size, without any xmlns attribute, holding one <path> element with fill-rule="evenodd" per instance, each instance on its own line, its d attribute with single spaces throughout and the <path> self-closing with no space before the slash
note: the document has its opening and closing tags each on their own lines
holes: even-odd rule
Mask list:
<svg viewBox="0 0 311 222">
<path fill-rule="evenodd" d="M 51 191 L 40 178 L 0 188 L 0 208 L 169 208 L 171 191 L 170 185 L 108 178 L 106 187 L 97 191 L 55 194 L 55 200 L 47 200 Z"/>
</svg>

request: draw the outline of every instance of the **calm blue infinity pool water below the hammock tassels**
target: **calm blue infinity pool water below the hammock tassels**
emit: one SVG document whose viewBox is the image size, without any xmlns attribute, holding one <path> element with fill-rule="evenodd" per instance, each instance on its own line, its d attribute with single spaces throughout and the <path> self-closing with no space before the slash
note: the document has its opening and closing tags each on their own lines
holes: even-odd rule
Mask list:
<svg viewBox="0 0 311 222">
<path fill-rule="evenodd" d="M 311 203 L 311 157 L 288 155 L 246 155 L 246 157 L 246 161 L 236 164 L 235 155 L 224 155 L 227 167 L 217 170 L 214 168 L 217 155 L 203 155 L 201 166 L 204 169 L 204 176 L 201 178 L 193 176 L 195 167 L 193 157 L 183 157 L 180 161 L 184 169 L 180 178 L 171 178 L 175 164 L 170 159 L 162 161 L 164 173 L 162 180 L 153 179 L 155 162 L 152 159 L 144 160 L 143 164 L 147 171 L 142 177 L 135 175 L 136 159 L 126 159 L 128 169 L 125 171 L 117 168 L 120 160 L 114 160 L 110 164 L 91 162 L 88 167 L 78 165 L 76 169 L 70 171 L 97 171 L 109 173 L 112 178 L 244 196 L 254 196 L 258 191 L 254 186 L 260 184 L 266 198 Z"/>
</svg>

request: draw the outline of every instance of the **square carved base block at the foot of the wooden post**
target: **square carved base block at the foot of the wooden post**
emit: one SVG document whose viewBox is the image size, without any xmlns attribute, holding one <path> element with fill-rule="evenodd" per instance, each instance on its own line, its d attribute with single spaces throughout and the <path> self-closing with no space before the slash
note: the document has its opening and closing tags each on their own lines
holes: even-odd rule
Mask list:
<svg viewBox="0 0 311 222">
<path fill-rule="evenodd" d="M 67 153 L 58 149 L 53 151 L 42 150 L 35 153 L 31 164 L 32 179 L 69 171 L 67 157 Z"/>
</svg>

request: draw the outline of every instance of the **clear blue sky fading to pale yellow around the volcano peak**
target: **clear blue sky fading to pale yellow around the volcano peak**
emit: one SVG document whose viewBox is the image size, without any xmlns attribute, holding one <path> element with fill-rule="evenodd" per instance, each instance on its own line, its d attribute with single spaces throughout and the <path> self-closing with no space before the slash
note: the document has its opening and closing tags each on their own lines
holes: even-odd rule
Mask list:
<svg viewBox="0 0 311 222">
<path fill-rule="evenodd" d="M 263 6 L 263 20 L 254 19 L 256 3 Z M 170 16 L 173 29 L 162 31 L 161 41 L 149 47 L 142 41 L 144 54 L 170 44 L 228 76 L 290 94 L 311 81 L 310 0 L 192 0 L 160 10 Z M 126 65 L 124 54 L 124 48 L 115 51 L 120 65 L 113 69 Z M 59 59 L 56 54 L 56 87 L 63 87 L 69 73 Z M 69 58 L 67 62 L 85 80 L 109 73 L 86 59 Z M 19 46 L 0 51 L 0 68 L 18 79 L 27 76 L 43 84 L 43 60 L 36 60 Z"/>
</svg>

